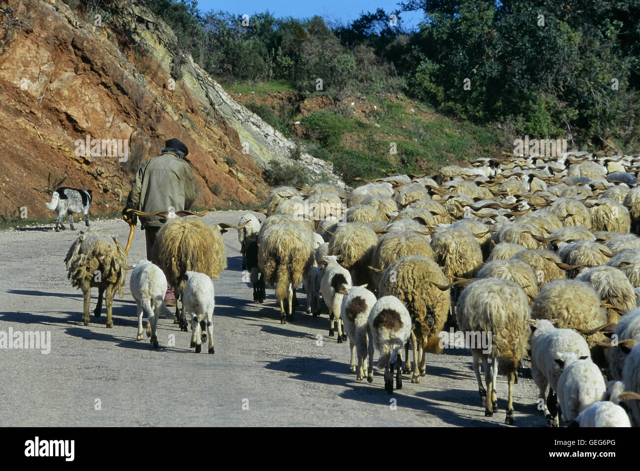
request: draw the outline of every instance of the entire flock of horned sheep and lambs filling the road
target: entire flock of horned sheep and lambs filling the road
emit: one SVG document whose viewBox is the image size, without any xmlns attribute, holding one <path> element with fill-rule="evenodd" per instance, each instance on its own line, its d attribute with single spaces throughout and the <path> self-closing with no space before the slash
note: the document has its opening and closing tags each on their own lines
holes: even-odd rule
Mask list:
<svg viewBox="0 0 640 471">
<path fill-rule="evenodd" d="M 320 314 L 322 296 L 329 335 L 335 327 L 338 342 L 349 340 L 358 380 L 373 381 L 375 349 L 389 394 L 394 376 L 402 387 L 402 372 L 419 383 L 426 354 L 441 353 L 442 335 L 455 328 L 490 339 L 488 348 L 467 342 L 485 415 L 497 411 L 496 377 L 504 374 L 513 424 L 513 385 L 529 356 L 550 426 L 559 410 L 565 426 L 640 426 L 637 165 L 586 152 L 503 156 L 446 166 L 433 178 L 392 175 L 351 194 L 329 184 L 275 188 L 262 222 L 247 213 L 237 226 L 212 226 L 165 214 L 154 263 L 138 262 L 131 275 L 138 340 L 147 312 L 158 346 L 163 314 L 184 331 L 191 319 L 191 347 L 199 353 L 208 335 L 214 353 L 211 278 L 227 266 L 221 233 L 235 228 L 253 300 L 262 303 L 273 287 L 286 324 L 296 288 L 305 289 L 308 314 Z M 81 234 L 65 262 L 84 294 L 84 324 L 95 286 L 94 313 L 106 293 L 113 326 L 111 303 L 127 268 L 119 241 Z M 182 301 L 175 316 L 163 301 L 167 282 Z"/>
</svg>

